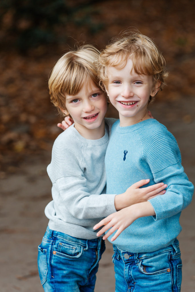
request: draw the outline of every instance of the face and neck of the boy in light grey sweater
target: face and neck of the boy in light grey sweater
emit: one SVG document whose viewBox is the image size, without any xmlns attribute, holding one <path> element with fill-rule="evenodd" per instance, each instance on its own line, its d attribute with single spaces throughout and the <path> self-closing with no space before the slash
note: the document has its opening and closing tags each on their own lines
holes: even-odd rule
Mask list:
<svg viewBox="0 0 195 292">
<path fill-rule="evenodd" d="M 93 140 L 103 137 L 107 98 L 91 79 L 76 95 L 66 94 L 65 106 L 74 120 L 75 128 L 84 138 Z M 67 114 L 67 111 L 63 112 Z"/>
</svg>

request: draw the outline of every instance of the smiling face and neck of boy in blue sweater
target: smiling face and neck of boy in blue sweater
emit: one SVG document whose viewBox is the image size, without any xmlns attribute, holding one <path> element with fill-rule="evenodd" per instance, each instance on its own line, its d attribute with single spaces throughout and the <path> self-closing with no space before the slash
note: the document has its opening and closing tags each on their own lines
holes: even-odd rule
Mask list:
<svg viewBox="0 0 195 292">
<path fill-rule="evenodd" d="M 131 59 L 122 69 L 110 66 L 107 72 L 107 92 L 110 102 L 119 112 L 120 126 L 135 124 L 147 116 L 149 97 L 158 91 L 158 88 L 153 88 L 152 76 L 135 73 Z"/>
</svg>

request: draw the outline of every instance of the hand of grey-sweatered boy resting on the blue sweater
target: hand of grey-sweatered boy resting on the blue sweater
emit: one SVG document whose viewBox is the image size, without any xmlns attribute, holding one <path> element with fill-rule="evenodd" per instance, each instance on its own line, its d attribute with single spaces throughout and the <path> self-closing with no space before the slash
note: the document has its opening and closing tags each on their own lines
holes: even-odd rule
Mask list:
<svg viewBox="0 0 195 292">
<path fill-rule="evenodd" d="M 149 181 L 149 179 L 140 180 L 130 186 L 123 194 L 115 196 L 115 209 L 120 210 L 133 204 L 146 202 L 153 197 L 165 194 L 165 188 L 167 185 L 164 183 L 158 183 L 140 189 L 141 186 L 146 185 Z"/>
</svg>

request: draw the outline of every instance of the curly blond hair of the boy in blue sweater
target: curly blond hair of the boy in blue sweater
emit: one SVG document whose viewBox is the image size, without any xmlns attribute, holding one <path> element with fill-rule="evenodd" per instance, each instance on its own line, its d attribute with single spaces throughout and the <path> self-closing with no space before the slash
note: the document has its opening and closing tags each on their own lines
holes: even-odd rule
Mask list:
<svg viewBox="0 0 195 292">
<path fill-rule="evenodd" d="M 160 81 L 159 89 L 162 90 L 166 83 L 168 72 L 165 68 L 165 59 L 158 51 L 156 44 L 147 36 L 140 33 L 131 33 L 125 37 L 115 38 L 101 51 L 99 56 L 98 74 L 100 86 L 103 90 L 108 86 L 108 66 L 122 69 L 128 59 L 133 62 L 133 69 L 137 74 L 151 75 L 153 86 Z M 149 98 L 149 102 L 154 97 Z"/>
</svg>

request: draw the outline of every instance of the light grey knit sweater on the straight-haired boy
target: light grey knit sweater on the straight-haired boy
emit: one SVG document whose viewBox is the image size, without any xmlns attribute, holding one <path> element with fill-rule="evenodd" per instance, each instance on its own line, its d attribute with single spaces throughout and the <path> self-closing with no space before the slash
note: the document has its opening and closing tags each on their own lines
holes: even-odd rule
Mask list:
<svg viewBox="0 0 195 292">
<path fill-rule="evenodd" d="M 45 208 L 49 228 L 73 237 L 96 238 L 93 226 L 115 212 L 115 194 L 106 194 L 104 158 L 115 119 L 105 118 L 105 135 L 87 140 L 74 124 L 54 142 L 47 167 L 52 198 Z"/>
</svg>

